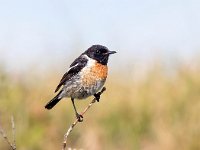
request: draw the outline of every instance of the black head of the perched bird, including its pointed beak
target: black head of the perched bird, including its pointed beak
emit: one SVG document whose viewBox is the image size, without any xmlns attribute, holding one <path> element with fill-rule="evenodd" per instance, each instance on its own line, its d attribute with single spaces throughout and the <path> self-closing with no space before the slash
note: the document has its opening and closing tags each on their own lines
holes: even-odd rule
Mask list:
<svg viewBox="0 0 200 150">
<path fill-rule="evenodd" d="M 109 51 L 107 47 L 102 45 L 92 45 L 84 52 L 84 54 L 86 54 L 88 57 L 95 59 L 97 62 L 103 65 L 107 65 L 108 57 L 110 56 L 110 54 L 114 53 L 116 52 Z"/>
</svg>

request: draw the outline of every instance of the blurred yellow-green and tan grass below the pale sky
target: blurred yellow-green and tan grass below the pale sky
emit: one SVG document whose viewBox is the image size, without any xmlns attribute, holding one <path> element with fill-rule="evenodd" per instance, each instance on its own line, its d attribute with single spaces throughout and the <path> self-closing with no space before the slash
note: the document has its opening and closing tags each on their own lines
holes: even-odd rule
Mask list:
<svg viewBox="0 0 200 150">
<path fill-rule="evenodd" d="M 44 109 L 59 79 L 50 73 L 40 78 L 0 71 L 0 119 L 11 137 L 14 115 L 18 149 L 60 149 L 74 120 L 72 104 L 65 99 L 51 111 Z M 200 70 L 180 66 L 169 76 L 155 67 L 145 78 L 132 79 L 110 74 L 107 91 L 75 127 L 69 145 L 91 150 L 200 149 Z M 77 102 L 78 110 L 90 100 Z M 8 149 L 2 137 L 0 149 Z"/>
</svg>

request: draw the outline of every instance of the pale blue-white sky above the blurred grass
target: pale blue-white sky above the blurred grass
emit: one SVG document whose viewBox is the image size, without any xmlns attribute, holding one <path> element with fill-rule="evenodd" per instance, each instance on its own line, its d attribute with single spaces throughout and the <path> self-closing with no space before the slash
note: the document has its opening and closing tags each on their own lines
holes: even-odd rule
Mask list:
<svg viewBox="0 0 200 150">
<path fill-rule="evenodd" d="M 0 0 L 0 63 L 20 71 L 73 60 L 92 44 L 126 65 L 200 56 L 199 0 Z M 123 65 L 122 65 L 123 66 Z"/>
</svg>

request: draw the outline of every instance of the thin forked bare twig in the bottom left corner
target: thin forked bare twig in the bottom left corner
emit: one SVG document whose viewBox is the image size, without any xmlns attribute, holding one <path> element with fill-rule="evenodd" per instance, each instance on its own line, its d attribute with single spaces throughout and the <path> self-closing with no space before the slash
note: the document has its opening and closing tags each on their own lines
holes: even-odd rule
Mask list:
<svg viewBox="0 0 200 150">
<path fill-rule="evenodd" d="M 16 145 L 15 145 L 15 125 L 14 125 L 14 119 L 13 116 L 11 117 L 11 124 L 12 124 L 12 129 L 13 130 L 13 144 L 10 142 L 10 140 L 8 139 L 6 132 L 3 130 L 2 126 L 1 126 L 1 122 L 0 122 L 0 134 L 2 135 L 2 137 L 4 138 L 4 140 L 8 143 L 8 145 L 11 147 L 12 150 L 16 150 Z"/>
</svg>

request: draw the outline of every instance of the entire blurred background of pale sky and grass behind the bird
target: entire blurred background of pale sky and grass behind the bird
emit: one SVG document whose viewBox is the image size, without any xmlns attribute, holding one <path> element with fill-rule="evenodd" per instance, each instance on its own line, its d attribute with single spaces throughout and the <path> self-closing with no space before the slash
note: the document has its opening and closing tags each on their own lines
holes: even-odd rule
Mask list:
<svg viewBox="0 0 200 150">
<path fill-rule="evenodd" d="M 200 149 L 200 2 L 0 1 L 0 123 L 20 150 L 61 149 L 74 121 L 69 99 L 44 105 L 70 62 L 92 44 L 118 53 L 107 91 L 68 146 L 102 150 Z M 81 112 L 91 101 L 76 101 Z M 0 149 L 9 149 L 0 136 Z"/>
</svg>

